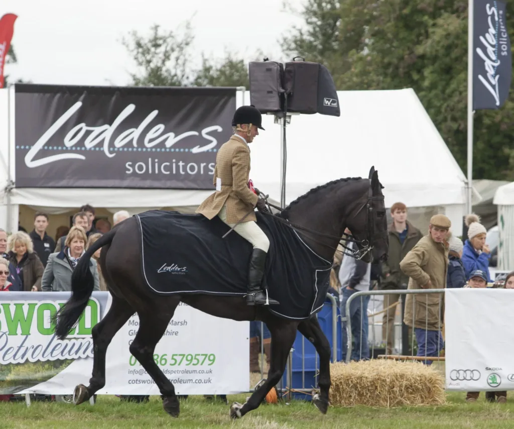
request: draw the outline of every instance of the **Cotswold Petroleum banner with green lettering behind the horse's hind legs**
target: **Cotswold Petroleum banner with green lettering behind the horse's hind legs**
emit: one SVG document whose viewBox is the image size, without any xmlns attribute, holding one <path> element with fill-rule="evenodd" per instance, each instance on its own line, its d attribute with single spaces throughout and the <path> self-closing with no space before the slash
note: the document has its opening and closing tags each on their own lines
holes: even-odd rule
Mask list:
<svg viewBox="0 0 514 429">
<path fill-rule="evenodd" d="M 0 395 L 72 395 L 89 384 L 93 371 L 93 328 L 111 307 L 111 294 L 94 292 L 76 328 L 63 341 L 50 316 L 67 292 L 9 292 L 0 296 Z M 132 356 L 139 329 L 133 315 L 114 336 L 106 355 L 102 395 L 160 395 Z M 249 389 L 249 323 L 222 319 L 185 304 L 154 351 L 154 361 L 177 395 L 235 394 Z"/>
</svg>

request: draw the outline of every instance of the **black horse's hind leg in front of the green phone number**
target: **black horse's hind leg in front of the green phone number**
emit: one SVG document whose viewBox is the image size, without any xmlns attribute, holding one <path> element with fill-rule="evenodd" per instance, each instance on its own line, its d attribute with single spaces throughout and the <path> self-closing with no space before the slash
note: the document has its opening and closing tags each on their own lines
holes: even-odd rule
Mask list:
<svg viewBox="0 0 514 429">
<path fill-rule="evenodd" d="M 172 417 L 178 417 L 180 406 L 173 383 L 163 374 L 154 361 L 155 346 L 161 339 L 173 317 L 180 298 L 167 298 L 162 305 L 156 306 L 152 312 L 141 312 L 139 315 L 139 330 L 130 346 L 130 352 L 155 381 L 163 396 L 164 410 Z"/>
</svg>

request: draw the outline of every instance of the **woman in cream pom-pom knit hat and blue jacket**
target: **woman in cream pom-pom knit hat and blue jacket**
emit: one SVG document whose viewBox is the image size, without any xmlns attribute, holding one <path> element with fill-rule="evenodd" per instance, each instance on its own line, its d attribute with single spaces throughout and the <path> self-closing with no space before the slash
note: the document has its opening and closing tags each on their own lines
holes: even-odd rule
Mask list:
<svg viewBox="0 0 514 429">
<path fill-rule="evenodd" d="M 462 263 L 466 278 L 475 270 L 482 270 L 487 273 L 487 281 L 492 282 L 489 274 L 489 258 L 491 251 L 489 246 L 485 244 L 487 230 L 480 223 L 480 218 L 476 214 L 468 214 L 466 216 L 466 225 L 468 226 L 468 240 L 464 243 L 462 252 Z"/>
</svg>

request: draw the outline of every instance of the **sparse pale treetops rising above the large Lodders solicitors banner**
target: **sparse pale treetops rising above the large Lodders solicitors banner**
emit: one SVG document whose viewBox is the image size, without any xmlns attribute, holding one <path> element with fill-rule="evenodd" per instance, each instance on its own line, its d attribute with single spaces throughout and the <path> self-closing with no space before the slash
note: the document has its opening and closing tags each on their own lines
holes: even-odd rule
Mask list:
<svg viewBox="0 0 514 429">
<path fill-rule="evenodd" d="M 149 35 L 136 31 L 123 38 L 122 44 L 136 63 L 130 84 L 135 86 L 249 86 L 248 65 L 233 53 L 220 60 L 201 55 L 200 68 L 194 68 L 194 35 L 190 22 L 182 33 L 167 31 L 158 25 Z"/>
</svg>

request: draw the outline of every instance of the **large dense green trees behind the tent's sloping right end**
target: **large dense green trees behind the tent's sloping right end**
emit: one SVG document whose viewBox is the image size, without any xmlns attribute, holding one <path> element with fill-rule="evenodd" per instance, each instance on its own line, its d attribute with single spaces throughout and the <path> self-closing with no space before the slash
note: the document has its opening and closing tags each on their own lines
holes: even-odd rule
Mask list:
<svg viewBox="0 0 514 429">
<path fill-rule="evenodd" d="M 412 87 L 466 171 L 467 6 L 467 0 L 308 0 L 305 27 L 292 29 L 282 46 L 288 56 L 323 62 L 339 90 Z M 507 29 L 514 40 L 512 2 Z M 474 115 L 474 177 L 514 180 L 513 87 L 501 109 Z"/>
</svg>

